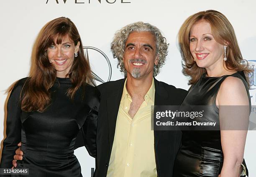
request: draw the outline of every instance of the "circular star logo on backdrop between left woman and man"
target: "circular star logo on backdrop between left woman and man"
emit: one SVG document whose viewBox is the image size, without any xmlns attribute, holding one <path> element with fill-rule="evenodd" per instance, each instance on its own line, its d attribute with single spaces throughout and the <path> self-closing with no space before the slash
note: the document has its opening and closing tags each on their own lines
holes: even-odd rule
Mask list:
<svg viewBox="0 0 256 177">
<path fill-rule="evenodd" d="M 108 59 L 108 56 L 96 47 L 84 46 L 83 49 L 85 51 L 85 57 L 87 60 L 90 61 L 90 64 L 92 64 L 93 61 L 90 60 L 89 52 L 91 51 L 91 53 L 93 53 L 93 52 L 95 53 L 95 51 L 96 51 L 96 55 L 100 54 L 100 55 L 97 55 L 97 59 L 100 60 L 100 62 L 99 62 L 100 65 L 97 64 L 97 68 L 99 69 L 100 67 L 102 67 L 102 69 L 100 68 L 100 70 L 98 70 L 98 71 L 96 70 L 95 72 L 92 71 L 94 80 L 101 82 L 101 83 L 110 81 L 111 75 L 112 75 L 112 67 L 111 67 L 110 60 Z M 100 58 L 98 58 L 98 56 Z M 102 73 L 102 70 L 103 70 L 103 73 Z"/>
</svg>

